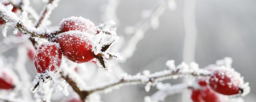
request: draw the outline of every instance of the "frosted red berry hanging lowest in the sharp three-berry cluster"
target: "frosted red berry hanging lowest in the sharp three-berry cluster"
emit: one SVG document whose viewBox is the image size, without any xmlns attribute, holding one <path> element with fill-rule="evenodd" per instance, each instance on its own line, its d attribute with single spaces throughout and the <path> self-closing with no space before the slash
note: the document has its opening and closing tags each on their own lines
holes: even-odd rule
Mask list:
<svg viewBox="0 0 256 102">
<path fill-rule="evenodd" d="M 36 50 L 34 64 L 38 73 L 57 72 L 62 60 L 62 52 L 58 43 L 44 43 Z"/>
</svg>

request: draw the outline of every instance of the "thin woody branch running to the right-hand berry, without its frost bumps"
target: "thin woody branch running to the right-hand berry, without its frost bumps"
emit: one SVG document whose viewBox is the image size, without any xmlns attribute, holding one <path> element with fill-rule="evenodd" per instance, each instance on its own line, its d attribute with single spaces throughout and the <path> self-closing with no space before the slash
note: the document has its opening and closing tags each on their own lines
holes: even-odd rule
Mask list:
<svg viewBox="0 0 256 102">
<path fill-rule="evenodd" d="M 210 76 L 212 73 L 205 70 L 198 70 L 198 71 L 189 71 L 189 70 L 177 70 L 177 71 L 171 71 L 171 70 L 164 70 L 160 72 L 156 72 L 150 75 L 134 75 L 134 76 L 126 76 L 123 78 L 120 78 L 118 80 L 105 83 L 103 85 L 94 86 L 93 88 L 90 88 L 86 91 L 89 93 L 93 92 L 109 92 L 112 89 L 111 88 L 119 88 L 123 85 L 130 85 L 130 84 L 146 84 L 148 82 L 156 83 L 158 81 L 167 80 L 170 78 L 176 78 L 176 77 L 184 77 L 184 76 L 194 76 L 194 77 L 207 77 Z M 108 90 L 110 89 L 110 90 Z"/>
</svg>

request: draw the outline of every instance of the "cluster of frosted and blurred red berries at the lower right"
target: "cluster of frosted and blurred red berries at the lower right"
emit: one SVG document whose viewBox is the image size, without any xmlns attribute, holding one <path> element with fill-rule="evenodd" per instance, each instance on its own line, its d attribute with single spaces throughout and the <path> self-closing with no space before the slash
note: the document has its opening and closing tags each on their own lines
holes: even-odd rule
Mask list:
<svg viewBox="0 0 256 102">
<path fill-rule="evenodd" d="M 200 88 L 192 89 L 193 102 L 224 102 L 225 95 L 243 94 L 244 84 L 240 75 L 232 68 L 210 69 L 212 76 L 198 78 Z"/>
</svg>

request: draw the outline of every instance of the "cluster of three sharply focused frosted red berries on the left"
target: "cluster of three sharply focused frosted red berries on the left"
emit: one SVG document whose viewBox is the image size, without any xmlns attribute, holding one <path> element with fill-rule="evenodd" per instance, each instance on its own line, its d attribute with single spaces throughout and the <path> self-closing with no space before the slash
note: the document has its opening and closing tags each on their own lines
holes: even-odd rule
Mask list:
<svg viewBox="0 0 256 102">
<path fill-rule="evenodd" d="M 88 36 L 97 35 L 100 31 L 90 20 L 82 17 L 64 19 L 56 32 L 58 34 L 54 34 L 52 39 L 54 43 L 44 43 L 36 50 L 34 64 L 38 73 L 57 72 L 62 54 L 75 63 L 103 59 L 101 54 L 95 55 L 92 50 L 92 41 Z"/>
</svg>

